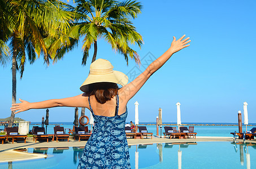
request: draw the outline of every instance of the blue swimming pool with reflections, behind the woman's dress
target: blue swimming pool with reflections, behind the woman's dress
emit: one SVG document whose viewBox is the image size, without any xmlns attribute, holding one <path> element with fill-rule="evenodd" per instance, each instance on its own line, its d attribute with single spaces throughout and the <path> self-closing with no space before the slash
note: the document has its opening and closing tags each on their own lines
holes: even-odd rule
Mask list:
<svg viewBox="0 0 256 169">
<path fill-rule="evenodd" d="M 28 148 L 49 157 L 0 163 L 0 168 L 76 168 L 83 147 Z M 256 144 L 230 142 L 162 143 L 129 146 L 132 168 L 254 168 Z M 250 163 L 250 164 L 249 164 Z"/>
</svg>

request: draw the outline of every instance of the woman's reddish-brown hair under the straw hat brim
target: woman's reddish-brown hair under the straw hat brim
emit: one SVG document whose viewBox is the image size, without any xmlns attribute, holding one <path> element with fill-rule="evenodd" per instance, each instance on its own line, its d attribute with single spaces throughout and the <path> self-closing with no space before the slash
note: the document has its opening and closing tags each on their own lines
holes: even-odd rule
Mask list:
<svg viewBox="0 0 256 169">
<path fill-rule="evenodd" d="M 98 103 L 106 103 L 118 94 L 118 84 L 109 82 L 93 83 L 93 90 L 90 96 L 94 95 Z"/>
</svg>

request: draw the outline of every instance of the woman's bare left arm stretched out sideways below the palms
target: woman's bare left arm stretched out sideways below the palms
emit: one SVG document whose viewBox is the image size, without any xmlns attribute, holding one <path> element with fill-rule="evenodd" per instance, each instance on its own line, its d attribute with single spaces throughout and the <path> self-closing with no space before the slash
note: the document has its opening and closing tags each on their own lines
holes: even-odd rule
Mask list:
<svg viewBox="0 0 256 169">
<path fill-rule="evenodd" d="M 29 103 L 28 101 L 21 100 L 21 103 L 12 104 L 11 111 L 17 111 L 16 113 L 24 112 L 29 109 L 45 109 L 53 108 L 57 106 L 68 107 L 89 107 L 88 97 L 85 94 L 81 94 L 74 97 L 67 97 L 64 99 L 51 99 L 46 101 L 40 101 L 35 103 Z"/>
</svg>

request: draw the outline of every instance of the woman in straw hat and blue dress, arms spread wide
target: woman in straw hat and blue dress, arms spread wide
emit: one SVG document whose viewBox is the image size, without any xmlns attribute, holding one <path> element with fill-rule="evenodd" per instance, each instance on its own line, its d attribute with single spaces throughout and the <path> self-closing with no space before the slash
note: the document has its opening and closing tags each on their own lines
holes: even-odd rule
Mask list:
<svg viewBox="0 0 256 169">
<path fill-rule="evenodd" d="M 84 94 L 37 103 L 19 99 L 21 103 L 12 104 L 11 110 L 18 110 L 16 113 L 20 113 L 29 109 L 56 106 L 88 108 L 93 114 L 95 126 L 80 157 L 78 168 L 131 168 L 124 132 L 127 102 L 172 54 L 189 46 L 189 38 L 184 38 L 185 35 L 176 41 L 173 37 L 171 47 L 129 84 L 127 76 L 112 70 L 113 66 L 109 61 L 98 59 L 90 65 L 89 76 L 80 87 Z M 117 84 L 123 87 L 118 88 Z"/>
</svg>

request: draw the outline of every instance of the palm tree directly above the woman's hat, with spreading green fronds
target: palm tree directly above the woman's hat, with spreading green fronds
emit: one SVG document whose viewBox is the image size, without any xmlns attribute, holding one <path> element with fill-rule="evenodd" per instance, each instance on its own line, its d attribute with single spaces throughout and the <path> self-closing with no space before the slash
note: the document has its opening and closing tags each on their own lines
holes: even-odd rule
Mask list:
<svg viewBox="0 0 256 169">
<path fill-rule="evenodd" d="M 79 28 L 83 40 L 83 60 L 86 64 L 90 48 L 94 47 L 93 61 L 97 56 L 97 40 L 104 38 L 112 49 L 128 56 L 140 63 L 139 56 L 129 45 L 137 44 L 140 48 L 143 43 L 142 36 L 136 32 L 131 19 L 141 13 L 141 3 L 136 1 L 114 1 L 114 0 L 76 0 L 76 27 Z M 81 116 L 85 108 L 82 108 Z"/>
</svg>

